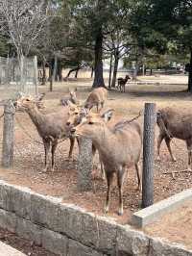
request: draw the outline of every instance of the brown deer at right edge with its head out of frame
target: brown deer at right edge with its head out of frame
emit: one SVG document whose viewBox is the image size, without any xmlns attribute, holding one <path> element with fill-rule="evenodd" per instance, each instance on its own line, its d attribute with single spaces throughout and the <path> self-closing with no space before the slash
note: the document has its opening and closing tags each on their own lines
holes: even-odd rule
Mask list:
<svg viewBox="0 0 192 256">
<path fill-rule="evenodd" d="M 160 159 L 160 145 L 164 140 L 173 162 L 177 159 L 172 153 L 171 141 L 173 138 L 186 142 L 188 151 L 188 169 L 191 170 L 192 162 L 192 114 L 188 111 L 180 112 L 167 107 L 159 110 L 156 115 L 156 123 L 159 128 L 157 139 L 157 159 Z"/>
</svg>

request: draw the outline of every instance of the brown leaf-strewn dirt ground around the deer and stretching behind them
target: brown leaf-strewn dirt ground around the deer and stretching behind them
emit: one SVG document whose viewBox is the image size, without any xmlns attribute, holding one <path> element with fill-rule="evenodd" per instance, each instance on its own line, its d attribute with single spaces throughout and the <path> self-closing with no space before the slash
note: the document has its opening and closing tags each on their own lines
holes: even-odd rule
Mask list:
<svg viewBox="0 0 192 256">
<path fill-rule="evenodd" d="M 171 81 L 180 81 L 180 85 L 135 85 L 130 84 L 126 93 L 109 91 L 107 106 L 115 109 L 111 124 L 121 118 L 131 118 L 138 115 L 143 109 L 145 102 L 156 102 L 157 108 L 173 106 L 180 109 L 191 108 L 191 95 L 186 92 L 185 80 L 180 76 L 171 77 Z M 156 79 L 156 78 L 154 78 Z M 161 77 L 158 77 L 160 81 Z M 163 79 L 165 79 L 163 77 Z M 168 77 L 166 77 L 169 80 Z M 183 82 L 184 81 L 184 82 Z M 178 83 L 177 83 L 178 84 Z M 84 103 L 91 81 L 80 79 L 80 81 L 63 82 L 57 84 L 53 92 L 48 92 L 47 87 L 41 87 L 40 91 L 46 92 L 44 99 L 46 112 L 60 109 L 60 96 L 68 89 L 78 87 L 78 97 Z M 143 116 L 138 121 L 143 123 Z M 0 120 L 2 130 L 2 119 Z M 2 133 L 1 133 L 2 135 Z M 30 135 L 30 137 L 29 137 Z M 156 137 L 158 129 L 156 127 Z M 187 167 L 187 152 L 183 141 L 174 140 L 173 151 L 177 162 L 172 163 L 164 142 L 161 146 L 161 160 L 155 162 L 155 201 L 164 199 L 176 192 L 192 187 L 192 173 L 179 172 L 173 177 L 168 172 L 184 170 Z M 15 142 L 14 142 L 14 167 L 10 170 L 0 169 L 0 178 L 12 184 L 29 187 L 36 192 L 62 197 L 63 202 L 78 204 L 84 209 L 98 215 L 103 214 L 104 202 L 106 200 L 107 185 L 101 179 L 100 170 L 94 165 L 93 191 L 80 193 L 77 191 L 77 144 L 73 152 L 73 159 L 68 160 L 69 142 L 59 144 L 56 152 L 55 172 L 43 173 L 44 150 L 37 135 L 36 127 L 29 116 L 17 113 L 15 119 Z M 140 163 L 142 163 L 142 158 Z M 98 160 L 95 161 L 98 164 Z M 98 165 L 97 165 L 98 166 Z M 132 213 L 139 209 L 141 194 L 136 191 L 135 170 L 129 170 L 129 177 L 124 189 L 123 217 L 118 217 L 118 192 L 114 181 L 111 192 L 111 205 L 108 217 L 119 223 L 130 223 Z M 192 232 L 191 230 L 189 230 Z M 192 235 L 192 233 L 191 233 Z"/>
</svg>

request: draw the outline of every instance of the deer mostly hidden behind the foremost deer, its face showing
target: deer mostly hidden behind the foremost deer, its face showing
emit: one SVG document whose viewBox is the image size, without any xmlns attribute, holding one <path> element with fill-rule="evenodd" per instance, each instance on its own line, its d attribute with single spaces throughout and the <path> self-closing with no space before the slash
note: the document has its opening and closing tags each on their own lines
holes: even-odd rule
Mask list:
<svg viewBox="0 0 192 256">
<path fill-rule="evenodd" d="M 69 102 L 69 105 L 70 105 L 70 115 L 69 115 L 69 119 L 66 122 L 66 125 L 68 125 L 68 127 L 74 127 L 74 126 L 77 126 L 78 124 L 80 124 L 84 121 L 84 117 L 86 115 L 88 115 L 89 111 L 85 108 L 77 107 L 77 106 L 75 106 L 74 104 L 72 104 L 70 102 Z M 114 111 L 113 109 L 109 109 L 109 110 L 110 110 L 111 113 Z M 111 119 L 111 116 L 112 115 L 108 115 L 108 118 L 106 118 L 106 122 L 108 122 Z M 96 151 L 97 151 L 96 146 L 93 143 L 92 144 L 92 156 L 93 156 L 93 158 L 96 154 Z M 104 170 L 102 161 L 100 159 L 100 156 L 99 156 L 99 161 L 100 161 L 100 165 L 101 165 L 102 179 L 105 180 L 106 174 L 105 174 L 105 170 Z"/>
</svg>

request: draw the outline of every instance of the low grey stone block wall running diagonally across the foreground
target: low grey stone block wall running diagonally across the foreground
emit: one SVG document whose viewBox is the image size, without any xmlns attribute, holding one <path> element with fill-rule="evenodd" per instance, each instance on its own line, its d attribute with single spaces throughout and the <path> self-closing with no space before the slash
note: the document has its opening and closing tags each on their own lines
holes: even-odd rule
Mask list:
<svg viewBox="0 0 192 256">
<path fill-rule="evenodd" d="M 63 256 L 189 256 L 192 251 L 146 236 L 84 209 L 0 181 L 0 226 Z"/>
</svg>

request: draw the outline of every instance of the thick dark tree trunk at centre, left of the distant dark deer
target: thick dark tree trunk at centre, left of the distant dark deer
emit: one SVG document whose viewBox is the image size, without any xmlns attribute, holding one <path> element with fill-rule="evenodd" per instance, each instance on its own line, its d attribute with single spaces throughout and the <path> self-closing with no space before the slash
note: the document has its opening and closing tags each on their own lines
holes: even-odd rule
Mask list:
<svg viewBox="0 0 192 256">
<path fill-rule="evenodd" d="M 93 88 L 105 87 L 103 76 L 103 32 L 99 29 L 97 37 L 95 38 L 95 76 L 93 81 Z"/>
</svg>

